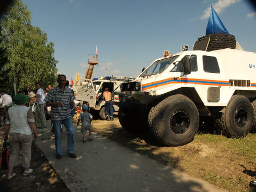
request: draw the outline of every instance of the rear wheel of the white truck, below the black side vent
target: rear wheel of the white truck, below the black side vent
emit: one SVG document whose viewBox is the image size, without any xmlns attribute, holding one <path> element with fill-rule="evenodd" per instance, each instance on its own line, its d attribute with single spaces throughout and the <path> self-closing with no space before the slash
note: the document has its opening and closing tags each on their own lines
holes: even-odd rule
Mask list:
<svg viewBox="0 0 256 192">
<path fill-rule="evenodd" d="M 253 107 L 243 95 L 233 95 L 225 112 L 216 121 L 223 134 L 228 137 L 245 137 L 252 129 L 254 122 Z"/>
</svg>

